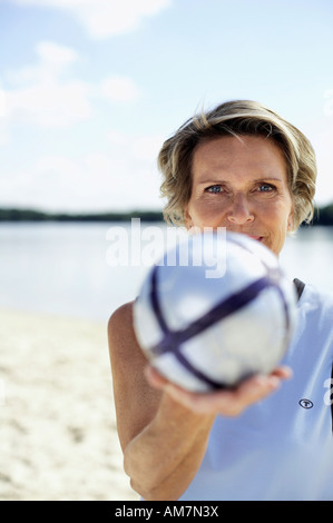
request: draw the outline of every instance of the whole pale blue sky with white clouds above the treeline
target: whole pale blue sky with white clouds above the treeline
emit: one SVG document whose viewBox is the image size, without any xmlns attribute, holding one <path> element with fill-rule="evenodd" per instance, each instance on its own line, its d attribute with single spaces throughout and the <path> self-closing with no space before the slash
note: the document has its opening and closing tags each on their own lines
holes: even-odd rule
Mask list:
<svg viewBox="0 0 333 523">
<path fill-rule="evenodd" d="M 0 0 L 0 207 L 161 209 L 156 158 L 197 110 L 265 103 L 333 203 L 332 0 Z"/>
</svg>

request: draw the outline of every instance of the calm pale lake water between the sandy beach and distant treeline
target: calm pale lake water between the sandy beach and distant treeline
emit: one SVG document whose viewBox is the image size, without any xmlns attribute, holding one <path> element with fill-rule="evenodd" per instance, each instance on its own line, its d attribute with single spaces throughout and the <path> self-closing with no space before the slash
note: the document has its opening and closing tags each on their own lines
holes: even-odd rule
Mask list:
<svg viewBox="0 0 333 523">
<path fill-rule="evenodd" d="M 116 245 L 110 241 L 116 230 L 125 231 L 124 241 L 126 236 L 131 241 L 130 224 L 123 223 L 1 224 L 0 307 L 107 320 L 138 294 L 147 260 L 158 258 L 169 229 L 164 224 L 140 224 L 144 244 L 147 247 L 150 238 L 157 249 L 146 248 L 144 264 L 125 248 L 129 263 L 112 267 L 107 255 Z M 287 238 L 281 256 L 291 277 L 333 292 L 332 259 L 331 227 L 302 228 L 295 238 Z"/>
</svg>

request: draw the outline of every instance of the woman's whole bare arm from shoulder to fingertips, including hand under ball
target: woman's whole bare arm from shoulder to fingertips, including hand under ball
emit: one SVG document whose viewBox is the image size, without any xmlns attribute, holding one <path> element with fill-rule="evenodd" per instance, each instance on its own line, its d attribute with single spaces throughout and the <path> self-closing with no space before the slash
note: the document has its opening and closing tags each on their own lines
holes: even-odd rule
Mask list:
<svg viewBox="0 0 333 523">
<path fill-rule="evenodd" d="M 125 471 L 147 501 L 178 500 L 202 463 L 216 414 L 238 415 L 287 377 L 280 369 L 233 391 L 193 394 L 149 367 L 135 337 L 133 304 L 112 314 L 108 336 Z"/>
</svg>

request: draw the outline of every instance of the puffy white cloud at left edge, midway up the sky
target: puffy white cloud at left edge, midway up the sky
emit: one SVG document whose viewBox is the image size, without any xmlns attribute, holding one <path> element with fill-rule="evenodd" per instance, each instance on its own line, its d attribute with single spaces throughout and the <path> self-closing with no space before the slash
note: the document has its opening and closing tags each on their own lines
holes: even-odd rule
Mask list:
<svg viewBox="0 0 333 523">
<path fill-rule="evenodd" d="M 6 111 L 2 125 L 13 122 L 41 127 L 68 127 L 92 114 L 89 102 L 91 87 L 82 81 L 67 80 L 69 66 L 78 60 L 75 50 L 55 42 L 36 46 L 37 63 L 6 73 Z"/>
</svg>

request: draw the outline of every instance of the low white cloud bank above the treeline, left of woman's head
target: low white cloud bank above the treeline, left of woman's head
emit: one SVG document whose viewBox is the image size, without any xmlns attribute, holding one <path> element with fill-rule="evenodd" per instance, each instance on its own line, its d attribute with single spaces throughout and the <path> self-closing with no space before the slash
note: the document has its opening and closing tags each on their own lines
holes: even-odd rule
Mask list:
<svg viewBox="0 0 333 523">
<path fill-rule="evenodd" d="M 1 205 L 96 211 L 160 208 L 161 137 L 110 131 L 107 152 L 40 155 L 0 176 Z"/>
</svg>

